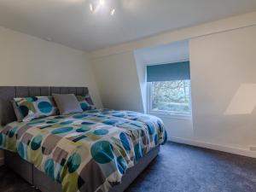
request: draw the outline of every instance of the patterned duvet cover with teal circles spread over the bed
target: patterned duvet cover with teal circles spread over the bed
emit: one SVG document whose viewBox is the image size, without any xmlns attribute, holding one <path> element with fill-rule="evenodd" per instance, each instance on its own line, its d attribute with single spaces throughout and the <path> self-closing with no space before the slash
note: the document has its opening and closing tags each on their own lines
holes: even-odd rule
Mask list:
<svg viewBox="0 0 256 192">
<path fill-rule="evenodd" d="M 0 148 L 17 151 L 64 192 L 107 192 L 166 137 L 154 116 L 98 109 L 10 123 L 0 131 Z"/>
</svg>

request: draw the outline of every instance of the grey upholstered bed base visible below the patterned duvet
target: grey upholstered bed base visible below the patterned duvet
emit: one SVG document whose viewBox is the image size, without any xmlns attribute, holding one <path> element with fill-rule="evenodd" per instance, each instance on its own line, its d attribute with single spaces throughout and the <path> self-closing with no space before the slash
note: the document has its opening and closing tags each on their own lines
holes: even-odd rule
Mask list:
<svg viewBox="0 0 256 192">
<path fill-rule="evenodd" d="M 131 167 L 125 172 L 122 177 L 122 183 L 114 186 L 109 192 L 123 192 L 129 187 L 129 185 L 136 179 L 136 177 L 143 172 L 143 170 L 154 160 L 160 151 L 160 146 L 153 148 L 148 154 L 146 154 L 136 166 Z M 61 184 L 56 183 L 44 172 L 39 171 L 31 163 L 26 160 L 22 160 L 16 153 L 5 153 L 5 165 L 9 166 L 14 172 L 17 172 L 20 177 L 24 178 L 26 182 L 40 189 L 42 192 L 61 192 Z"/>
</svg>

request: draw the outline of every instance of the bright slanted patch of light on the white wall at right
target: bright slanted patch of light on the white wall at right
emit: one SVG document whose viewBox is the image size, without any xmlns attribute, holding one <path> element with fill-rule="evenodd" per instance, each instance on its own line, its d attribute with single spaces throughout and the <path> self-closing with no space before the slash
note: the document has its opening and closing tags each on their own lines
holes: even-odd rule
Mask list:
<svg viewBox="0 0 256 192">
<path fill-rule="evenodd" d="M 225 115 L 251 114 L 256 107 L 256 84 L 241 84 Z"/>
</svg>

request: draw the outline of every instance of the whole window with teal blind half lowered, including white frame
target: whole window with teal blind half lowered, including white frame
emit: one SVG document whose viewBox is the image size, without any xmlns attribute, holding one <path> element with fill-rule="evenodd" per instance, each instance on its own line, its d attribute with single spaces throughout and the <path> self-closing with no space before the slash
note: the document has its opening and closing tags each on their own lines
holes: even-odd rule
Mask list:
<svg viewBox="0 0 256 192">
<path fill-rule="evenodd" d="M 148 113 L 191 115 L 189 61 L 148 66 Z"/>
</svg>

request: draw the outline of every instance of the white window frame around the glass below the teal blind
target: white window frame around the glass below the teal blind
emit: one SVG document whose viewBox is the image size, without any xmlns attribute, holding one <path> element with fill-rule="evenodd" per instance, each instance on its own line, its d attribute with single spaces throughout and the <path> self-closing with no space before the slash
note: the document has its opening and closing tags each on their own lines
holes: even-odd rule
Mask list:
<svg viewBox="0 0 256 192">
<path fill-rule="evenodd" d="M 176 112 L 169 112 L 169 111 L 154 111 L 152 110 L 152 82 L 147 83 L 147 113 L 158 116 L 160 118 L 172 118 L 172 119 L 192 119 L 192 104 L 191 104 L 191 84 L 189 84 L 189 107 L 191 112 L 190 113 L 176 113 Z"/>
</svg>

